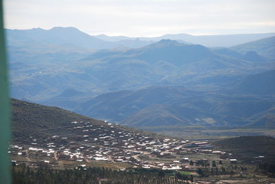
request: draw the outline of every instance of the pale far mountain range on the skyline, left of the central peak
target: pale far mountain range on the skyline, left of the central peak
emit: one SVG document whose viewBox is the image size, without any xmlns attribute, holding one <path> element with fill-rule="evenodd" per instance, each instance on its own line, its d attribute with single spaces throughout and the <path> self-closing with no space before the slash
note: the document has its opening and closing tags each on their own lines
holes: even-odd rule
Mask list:
<svg viewBox="0 0 275 184">
<path fill-rule="evenodd" d="M 40 51 L 46 46 L 54 46 L 67 49 L 111 49 L 111 48 L 135 48 L 153 43 L 152 41 L 126 40 L 115 43 L 102 41 L 96 36 L 90 36 L 75 27 L 53 27 L 50 30 L 34 28 L 31 30 L 6 30 L 8 45 L 15 47 L 27 47 Z M 52 49 L 54 51 L 54 49 Z"/>
</svg>

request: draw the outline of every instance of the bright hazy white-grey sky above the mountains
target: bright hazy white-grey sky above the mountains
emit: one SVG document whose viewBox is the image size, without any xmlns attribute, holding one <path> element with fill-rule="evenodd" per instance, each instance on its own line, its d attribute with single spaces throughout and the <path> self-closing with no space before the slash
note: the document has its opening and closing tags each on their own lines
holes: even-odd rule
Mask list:
<svg viewBox="0 0 275 184">
<path fill-rule="evenodd" d="M 91 35 L 275 32 L 275 0 L 4 0 L 5 27 Z"/>
</svg>

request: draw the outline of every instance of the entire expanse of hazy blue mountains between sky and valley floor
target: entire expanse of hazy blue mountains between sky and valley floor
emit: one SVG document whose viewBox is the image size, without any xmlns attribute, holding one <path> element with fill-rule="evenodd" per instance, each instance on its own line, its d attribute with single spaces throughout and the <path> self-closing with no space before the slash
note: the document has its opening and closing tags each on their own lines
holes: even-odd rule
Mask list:
<svg viewBox="0 0 275 184">
<path fill-rule="evenodd" d="M 7 35 L 12 97 L 137 127 L 274 126 L 274 37 L 208 48 L 74 27 Z"/>
</svg>

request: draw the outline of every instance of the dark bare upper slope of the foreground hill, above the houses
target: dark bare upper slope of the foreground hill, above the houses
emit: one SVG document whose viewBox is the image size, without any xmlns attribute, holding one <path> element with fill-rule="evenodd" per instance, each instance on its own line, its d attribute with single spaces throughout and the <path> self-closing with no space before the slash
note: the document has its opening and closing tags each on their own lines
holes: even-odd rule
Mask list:
<svg viewBox="0 0 275 184">
<path fill-rule="evenodd" d="M 30 135 L 60 134 L 72 136 L 72 122 L 92 122 L 94 126 L 109 129 L 106 122 L 78 115 L 54 106 L 42 106 L 22 100 L 12 99 L 12 135 L 14 138 Z M 136 131 L 123 126 L 115 126 L 115 130 Z M 144 132 L 143 132 L 144 133 Z"/>
</svg>

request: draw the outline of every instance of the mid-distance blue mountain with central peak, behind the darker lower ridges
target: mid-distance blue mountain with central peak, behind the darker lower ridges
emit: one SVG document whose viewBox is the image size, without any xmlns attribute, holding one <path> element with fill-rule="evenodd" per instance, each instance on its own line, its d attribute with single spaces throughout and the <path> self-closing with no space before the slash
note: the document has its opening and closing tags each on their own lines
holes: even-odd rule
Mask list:
<svg viewBox="0 0 275 184">
<path fill-rule="evenodd" d="M 68 89 L 84 93 L 77 97 L 78 101 L 99 93 L 139 89 L 152 84 L 227 85 L 236 81 L 236 76 L 270 67 L 265 58 L 254 52 L 251 60 L 249 52 L 240 54 L 226 49 L 225 54 L 202 45 L 186 45 L 171 40 L 137 49 L 94 53 L 32 52 L 13 47 L 8 50 L 12 97 L 35 102 L 56 103 L 56 95 Z"/>
</svg>

